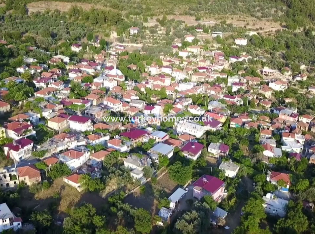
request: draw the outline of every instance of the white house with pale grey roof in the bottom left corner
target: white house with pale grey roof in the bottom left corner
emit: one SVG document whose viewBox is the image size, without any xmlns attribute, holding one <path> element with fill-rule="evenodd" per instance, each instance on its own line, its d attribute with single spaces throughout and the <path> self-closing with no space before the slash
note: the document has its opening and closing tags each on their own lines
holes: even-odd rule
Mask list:
<svg viewBox="0 0 315 234">
<path fill-rule="evenodd" d="M 22 219 L 17 218 L 9 209 L 7 203 L 0 204 L 0 233 L 5 233 L 5 230 L 13 229 L 17 231 L 22 228 Z M 14 233 L 14 232 L 6 232 Z"/>
</svg>

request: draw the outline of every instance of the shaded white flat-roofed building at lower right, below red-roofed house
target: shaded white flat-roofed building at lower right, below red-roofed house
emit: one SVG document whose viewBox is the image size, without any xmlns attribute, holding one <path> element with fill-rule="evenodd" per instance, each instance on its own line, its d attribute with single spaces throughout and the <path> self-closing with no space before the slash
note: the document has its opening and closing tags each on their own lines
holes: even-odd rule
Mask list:
<svg viewBox="0 0 315 234">
<path fill-rule="evenodd" d="M 276 215 L 281 218 L 287 214 L 288 200 L 278 198 L 272 193 L 267 193 L 262 199 L 264 200 L 262 206 L 266 214 Z"/>
</svg>

